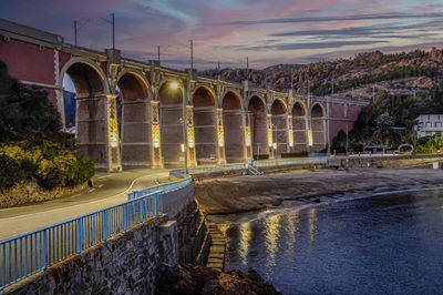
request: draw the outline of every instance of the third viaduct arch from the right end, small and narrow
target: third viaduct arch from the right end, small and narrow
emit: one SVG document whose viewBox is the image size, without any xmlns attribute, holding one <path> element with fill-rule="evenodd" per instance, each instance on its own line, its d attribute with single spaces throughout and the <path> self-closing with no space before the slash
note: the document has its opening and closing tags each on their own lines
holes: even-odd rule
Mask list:
<svg viewBox="0 0 443 295">
<path fill-rule="evenodd" d="M 270 112 L 272 114 L 272 141 L 277 145 L 272 146 L 274 155 L 278 156 L 287 152 L 288 149 L 288 113 L 284 100 L 274 100 Z"/>
</svg>

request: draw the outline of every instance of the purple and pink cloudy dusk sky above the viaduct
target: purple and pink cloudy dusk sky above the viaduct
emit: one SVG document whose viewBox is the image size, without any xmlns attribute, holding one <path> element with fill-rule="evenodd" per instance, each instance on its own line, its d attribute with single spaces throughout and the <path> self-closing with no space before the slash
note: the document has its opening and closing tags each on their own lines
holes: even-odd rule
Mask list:
<svg viewBox="0 0 443 295">
<path fill-rule="evenodd" d="M 443 0 L 0 0 L 0 18 L 162 65 L 264 69 L 443 48 Z"/>
</svg>

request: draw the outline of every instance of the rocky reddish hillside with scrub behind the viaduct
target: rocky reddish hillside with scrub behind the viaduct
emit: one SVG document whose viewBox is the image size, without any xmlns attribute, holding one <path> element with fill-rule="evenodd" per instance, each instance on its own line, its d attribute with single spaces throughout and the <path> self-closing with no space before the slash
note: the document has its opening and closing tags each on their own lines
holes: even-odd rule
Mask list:
<svg viewBox="0 0 443 295">
<path fill-rule="evenodd" d="M 443 50 L 414 50 L 410 52 L 383 54 L 380 51 L 360 53 L 354 58 L 309 64 L 278 64 L 264 70 L 249 70 L 248 79 L 254 83 L 276 90 L 290 88 L 299 93 L 330 95 L 332 80 L 334 95 L 342 98 L 370 99 L 372 88 L 375 94 L 388 91 L 393 94 L 412 94 L 437 85 L 443 77 Z M 241 81 L 246 69 L 223 69 L 223 79 Z M 216 77 L 217 70 L 206 70 L 203 74 Z M 309 81 L 309 83 L 308 83 Z"/>
</svg>

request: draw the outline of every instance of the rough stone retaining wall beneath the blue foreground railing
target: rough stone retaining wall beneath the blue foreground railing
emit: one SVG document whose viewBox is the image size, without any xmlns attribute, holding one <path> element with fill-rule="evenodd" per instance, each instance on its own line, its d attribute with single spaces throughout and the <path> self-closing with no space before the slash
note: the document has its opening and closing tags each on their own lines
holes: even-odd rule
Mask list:
<svg viewBox="0 0 443 295">
<path fill-rule="evenodd" d="M 205 241 L 206 225 L 193 187 L 165 196 L 175 204 L 179 200 L 187 202 L 4 289 L 4 294 L 155 294 L 159 274 L 176 268 L 179 262 L 194 262 Z"/>
</svg>

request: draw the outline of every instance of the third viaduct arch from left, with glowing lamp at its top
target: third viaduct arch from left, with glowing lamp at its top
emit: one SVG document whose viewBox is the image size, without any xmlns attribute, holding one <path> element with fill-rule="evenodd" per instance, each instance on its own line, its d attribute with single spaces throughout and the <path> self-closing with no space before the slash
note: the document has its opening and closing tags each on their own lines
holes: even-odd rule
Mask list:
<svg viewBox="0 0 443 295">
<path fill-rule="evenodd" d="M 176 89 L 171 85 L 175 82 Z M 161 83 L 158 89 L 158 120 L 162 142 L 162 155 L 165 167 L 178 167 L 182 165 L 181 159 L 184 157 L 182 144 L 183 136 L 183 89 L 184 85 L 177 80 L 168 79 Z"/>
</svg>

